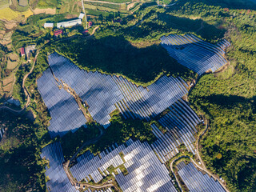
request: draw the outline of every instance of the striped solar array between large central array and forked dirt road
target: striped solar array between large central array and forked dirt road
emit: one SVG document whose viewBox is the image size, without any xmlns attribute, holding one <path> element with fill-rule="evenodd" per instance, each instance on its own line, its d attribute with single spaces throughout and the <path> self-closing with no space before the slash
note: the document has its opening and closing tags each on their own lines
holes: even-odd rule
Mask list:
<svg viewBox="0 0 256 192">
<path fill-rule="evenodd" d="M 163 163 L 178 154 L 178 146 L 182 143 L 194 154 L 194 134 L 197 132 L 195 126 L 201 122 L 194 110 L 182 99 L 169 109 L 170 112 L 158 120 L 166 128 L 166 134 L 162 134 L 155 124 L 151 125 L 158 138 L 151 146 Z"/>
</svg>

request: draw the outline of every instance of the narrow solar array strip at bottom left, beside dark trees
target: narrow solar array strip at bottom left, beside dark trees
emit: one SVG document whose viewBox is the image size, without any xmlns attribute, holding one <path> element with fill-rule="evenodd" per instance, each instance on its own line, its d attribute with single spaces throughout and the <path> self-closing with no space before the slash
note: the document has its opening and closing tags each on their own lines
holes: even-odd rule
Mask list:
<svg viewBox="0 0 256 192">
<path fill-rule="evenodd" d="M 49 160 L 49 166 L 46 166 L 46 176 L 50 178 L 50 181 L 46 182 L 46 186 L 49 191 L 66 191 L 77 192 L 74 186 L 71 185 L 69 178 L 63 169 L 62 163 L 64 162 L 62 154 L 62 146 L 60 142 L 51 143 L 42 149 L 41 158 Z"/>
</svg>

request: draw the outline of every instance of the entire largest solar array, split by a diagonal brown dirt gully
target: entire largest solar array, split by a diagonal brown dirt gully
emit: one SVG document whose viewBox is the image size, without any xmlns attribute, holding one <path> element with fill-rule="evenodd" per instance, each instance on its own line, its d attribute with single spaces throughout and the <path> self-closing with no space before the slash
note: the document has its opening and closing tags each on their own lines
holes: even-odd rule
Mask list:
<svg viewBox="0 0 256 192">
<path fill-rule="evenodd" d="M 150 120 L 187 93 L 182 78 L 163 76 L 146 89 L 126 78 L 81 70 L 57 53 L 50 54 L 48 59 L 50 68 L 38 79 L 38 90 L 50 111 L 52 119 L 48 129 L 52 138 L 69 130 L 74 132 L 86 123 L 74 98 L 58 88 L 62 83 L 87 102 L 94 120 L 105 127 L 110 125 L 110 113 L 116 109 L 125 118 Z"/>
</svg>

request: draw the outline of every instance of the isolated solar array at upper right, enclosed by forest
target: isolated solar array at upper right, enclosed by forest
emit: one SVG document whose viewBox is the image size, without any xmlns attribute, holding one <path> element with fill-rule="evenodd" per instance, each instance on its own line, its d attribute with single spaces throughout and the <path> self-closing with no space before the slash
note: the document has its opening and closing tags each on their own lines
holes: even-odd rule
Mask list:
<svg viewBox="0 0 256 192">
<path fill-rule="evenodd" d="M 207 70 L 218 70 L 226 64 L 224 49 L 230 42 L 223 40 L 218 45 L 202 41 L 193 34 L 170 34 L 161 38 L 162 46 L 180 64 L 201 75 Z"/>
</svg>

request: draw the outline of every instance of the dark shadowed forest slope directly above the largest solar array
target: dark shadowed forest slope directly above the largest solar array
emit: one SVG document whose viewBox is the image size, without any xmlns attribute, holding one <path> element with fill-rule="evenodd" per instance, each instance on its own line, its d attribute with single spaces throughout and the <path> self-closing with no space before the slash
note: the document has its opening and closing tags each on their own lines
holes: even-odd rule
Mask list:
<svg viewBox="0 0 256 192">
<path fill-rule="evenodd" d="M 137 48 L 121 37 L 73 38 L 51 47 L 86 70 L 121 74 L 143 86 L 162 74 L 183 78 L 193 74 L 170 58 L 162 46 Z"/>
</svg>

